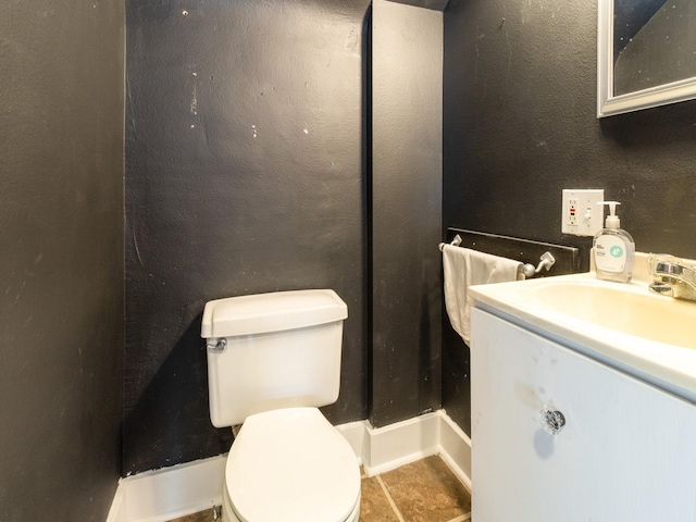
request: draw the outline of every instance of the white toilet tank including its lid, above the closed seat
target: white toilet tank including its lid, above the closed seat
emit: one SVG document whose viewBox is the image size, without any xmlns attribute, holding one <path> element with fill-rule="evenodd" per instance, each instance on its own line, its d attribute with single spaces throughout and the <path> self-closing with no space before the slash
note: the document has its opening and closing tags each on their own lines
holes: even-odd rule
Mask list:
<svg viewBox="0 0 696 522">
<path fill-rule="evenodd" d="M 334 290 L 293 290 L 209 301 L 210 420 L 234 426 L 262 411 L 338 399 L 346 303 Z M 223 346 L 224 345 L 224 346 Z"/>
</svg>

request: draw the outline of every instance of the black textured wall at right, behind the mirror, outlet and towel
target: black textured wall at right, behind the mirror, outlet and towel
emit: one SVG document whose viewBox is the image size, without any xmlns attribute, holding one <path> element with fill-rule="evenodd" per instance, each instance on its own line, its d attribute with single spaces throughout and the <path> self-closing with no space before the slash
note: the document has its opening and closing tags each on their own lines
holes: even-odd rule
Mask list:
<svg viewBox="0 0 696 522">
<path fill-rule="evenodd" d="M 444 224 L 587 247 L 560 233 L 561 190 L 604 188 L 638 251 L 694 258 L 696 103 L 597 120 L 596 27 L 596 2 L 449 3 Z M 450 334 L 443 401 L 469 431 L 468 353 Z"/>
</svg>

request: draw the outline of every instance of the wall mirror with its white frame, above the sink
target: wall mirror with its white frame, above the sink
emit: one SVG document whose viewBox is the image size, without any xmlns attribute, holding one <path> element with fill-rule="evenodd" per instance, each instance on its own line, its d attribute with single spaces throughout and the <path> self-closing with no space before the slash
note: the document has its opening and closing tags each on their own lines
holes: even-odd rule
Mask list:
<svg viewBox="0 0 696 522">
<path fill-rule="evenodd" d="M 696 1 L 599 0 L 597 117 L 696 98 Z"/>
</svg>

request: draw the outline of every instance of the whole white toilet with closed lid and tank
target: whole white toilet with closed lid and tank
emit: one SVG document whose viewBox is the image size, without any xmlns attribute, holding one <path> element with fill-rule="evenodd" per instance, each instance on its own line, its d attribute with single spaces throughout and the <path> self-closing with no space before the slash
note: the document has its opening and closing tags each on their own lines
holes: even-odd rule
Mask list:
<svg viewBox="0 0 696 522">
<path fill-rule="evenodd" d="M 346 303 L 330 289 L 209 301 L 210 419 L 241 424 L 223 483 L 225 522 L 353 522 L 360 469 L 318 408 L 338 399 Z"/>
</svg>

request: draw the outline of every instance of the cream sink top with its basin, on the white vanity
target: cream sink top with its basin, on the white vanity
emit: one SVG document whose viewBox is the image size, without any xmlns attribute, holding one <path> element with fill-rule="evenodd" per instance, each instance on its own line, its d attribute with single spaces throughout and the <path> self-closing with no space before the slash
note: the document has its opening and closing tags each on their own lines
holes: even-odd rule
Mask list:
<svg viewBox="0 0 696 522">
<path fill-rule="evenodd" d="M 696 403 L 696 302 L 592 272 L 473 286 L 470 294 L 476 308 Z"/>
</svg>

